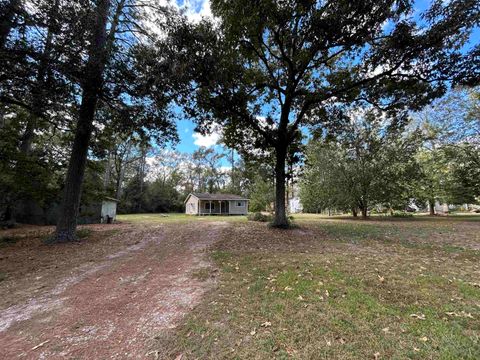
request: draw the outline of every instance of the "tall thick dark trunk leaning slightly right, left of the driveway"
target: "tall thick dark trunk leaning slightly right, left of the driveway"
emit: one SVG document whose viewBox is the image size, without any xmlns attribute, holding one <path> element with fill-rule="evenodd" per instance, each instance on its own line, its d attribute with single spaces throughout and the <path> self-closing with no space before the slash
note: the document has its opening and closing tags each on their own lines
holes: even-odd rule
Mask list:
<svg viewBox="0 0 480 360">
<path fill-rule="evenodd" d="M 98 2 L 95 28 L 85 69 L 85 80 L 82 84 L 82 103 L 80 105 L 77 129 L 65 181 L 65 192 L 55 233 L 57 242 L 75 240 L 82 182 L 93 131 L 93 119 L 107 61 L 107 21 L 109 10 L 110 0 L 100 0 Z"/>
</svg>

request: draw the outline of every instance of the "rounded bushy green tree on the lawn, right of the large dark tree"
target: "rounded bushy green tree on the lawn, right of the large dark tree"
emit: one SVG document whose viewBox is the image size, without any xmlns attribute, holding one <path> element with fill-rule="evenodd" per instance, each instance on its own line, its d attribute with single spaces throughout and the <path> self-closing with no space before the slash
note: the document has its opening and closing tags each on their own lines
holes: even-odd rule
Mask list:
<svg viewBox="0 0 480 360">
<path fill-rule="evenodd" d="M 352 118 L 335 137 L 312 140 L 300 182 L 306 211 L 366 211 L 380 204 L 404 209 L 418 177 L 414 155 L 421 145 L 407 119 L 386 119 L 369 110 Z M 403 125 L 402 125 L 403 122 Z"/>
</svg>

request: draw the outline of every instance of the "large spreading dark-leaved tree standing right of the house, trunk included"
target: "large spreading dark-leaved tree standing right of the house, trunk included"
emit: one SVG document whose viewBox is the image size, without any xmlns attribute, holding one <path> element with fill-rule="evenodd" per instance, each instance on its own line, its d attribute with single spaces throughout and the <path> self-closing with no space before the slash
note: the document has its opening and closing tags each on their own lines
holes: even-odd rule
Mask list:
<svg viewBox="0 0 480 360">
<path fill-rule="evenodd" d="M 213 0 L 212 11 L 222 35 L 198 35 L 205 45 L 192 53 L 190 114 L 201 125 L 250 129 L 254 147 L 274 152 L 278 227 L 287 226 L 285 161 L 302 127 L 341 119 L 355 102 L 418 108 L 445 80 L 478 80 L 474 52 L 461 50 L 479 22 L 475 0 L 434 1 L 421 18 L 404 0 Z"/>
</svg>

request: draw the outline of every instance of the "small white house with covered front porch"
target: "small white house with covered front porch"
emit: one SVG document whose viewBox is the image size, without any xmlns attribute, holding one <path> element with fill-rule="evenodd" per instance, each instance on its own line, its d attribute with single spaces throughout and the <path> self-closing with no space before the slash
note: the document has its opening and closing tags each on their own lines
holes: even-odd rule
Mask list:
<svg viewBox="0 0 480 360">
<path fill-rule="evenodd" d="M 185 214 L 247 215 L 248 199 L 233 194 L 191 193 L 185 199 Z"/>
</svg>

